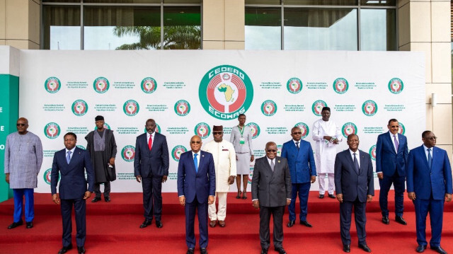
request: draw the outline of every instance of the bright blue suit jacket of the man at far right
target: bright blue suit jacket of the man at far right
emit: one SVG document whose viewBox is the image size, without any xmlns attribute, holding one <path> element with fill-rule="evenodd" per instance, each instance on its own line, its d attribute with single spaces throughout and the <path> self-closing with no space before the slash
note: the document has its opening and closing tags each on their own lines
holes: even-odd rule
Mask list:
<svg viewBox="0 0 453 254">
<path fill-rule="evenodd" d="M 408 192 L 415 192 L 416 198 L 429 200 L 432 193 L 434 200 L 443 200 L 445 193 L 452 194 L 452 168 L 443 149 L 432 147 L 431 170 L 423 145 L 412 149 L 406 173 Z"/>
</svg>

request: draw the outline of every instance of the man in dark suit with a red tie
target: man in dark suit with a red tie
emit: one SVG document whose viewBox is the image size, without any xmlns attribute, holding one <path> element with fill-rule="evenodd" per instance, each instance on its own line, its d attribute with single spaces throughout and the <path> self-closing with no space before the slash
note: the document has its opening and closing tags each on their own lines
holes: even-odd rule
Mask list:
<svg viewBox="0 0 453 254">
<path fill-rule="evenodd" d="M 162 227 L 162 183 L 168 176 L 168 146 L 164 135 L 154 132 L 156 122 L 148 119 L 147 133 L 135 142 L 134 175 L 142 183 L 144 221 L 140 228 L 151 225 L 153 214 L 156 226 Z"/>
</svg>

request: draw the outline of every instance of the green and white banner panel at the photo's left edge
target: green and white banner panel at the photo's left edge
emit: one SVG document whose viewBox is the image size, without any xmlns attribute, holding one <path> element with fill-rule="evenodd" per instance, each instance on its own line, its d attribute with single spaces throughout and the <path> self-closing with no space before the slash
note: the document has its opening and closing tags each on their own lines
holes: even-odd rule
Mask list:
<svg viewBox="0 0 453 254">
<path fill-rule="evenodd" d="M 19 51 L 0 46 L 0 202 L 13 196 L 5 180 L 4 158 L 6 136 L 16 131 L 19 113 Z"/>
</svg>

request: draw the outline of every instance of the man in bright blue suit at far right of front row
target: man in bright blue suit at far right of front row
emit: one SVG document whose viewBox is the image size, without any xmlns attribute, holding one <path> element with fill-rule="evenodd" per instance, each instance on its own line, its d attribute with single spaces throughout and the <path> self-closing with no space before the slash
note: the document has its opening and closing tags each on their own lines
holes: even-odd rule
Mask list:
<svg viewBox="0 0 453 254">
<path fill-rule="evenodd" d="M 417 230 L 416 251 L 423 253 L 426 241 L 426 216 L 430 213 L 430 248 L 437 253 L 447 254 L 440 247 L 444 202 L 452 200 L 452 168 L 447 151 L 435 147 L 434 133 L 422 134 L 423 145 L 411 150 L 407 166 L 408 197 L 415 206 L 415 229 Z"/>
</svg>

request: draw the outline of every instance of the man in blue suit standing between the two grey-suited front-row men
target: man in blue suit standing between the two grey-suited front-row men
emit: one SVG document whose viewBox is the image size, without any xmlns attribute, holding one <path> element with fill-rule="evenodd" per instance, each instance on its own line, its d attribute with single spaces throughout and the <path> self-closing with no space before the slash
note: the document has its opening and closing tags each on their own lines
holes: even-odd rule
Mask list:
<svg viewBox="0 0 453 254">
<path fill-rule="evenodd" d="M 310 185 L 316 181 L 316 166 L 313 150 L 309 142 L 301 139 L 302 132 L 299 127 L 291 129 L 292 139 L 283 144 L 282 157 L 287 158 L 289 173 L 291 175 L 291 204 L 289 204 L 288 227 L 292 227 L 296 221 L 296 199 L 299 192 L 300 224 L 311 228 L 306 221 L 306 207 L 309 202 Z"/>
</svg>

